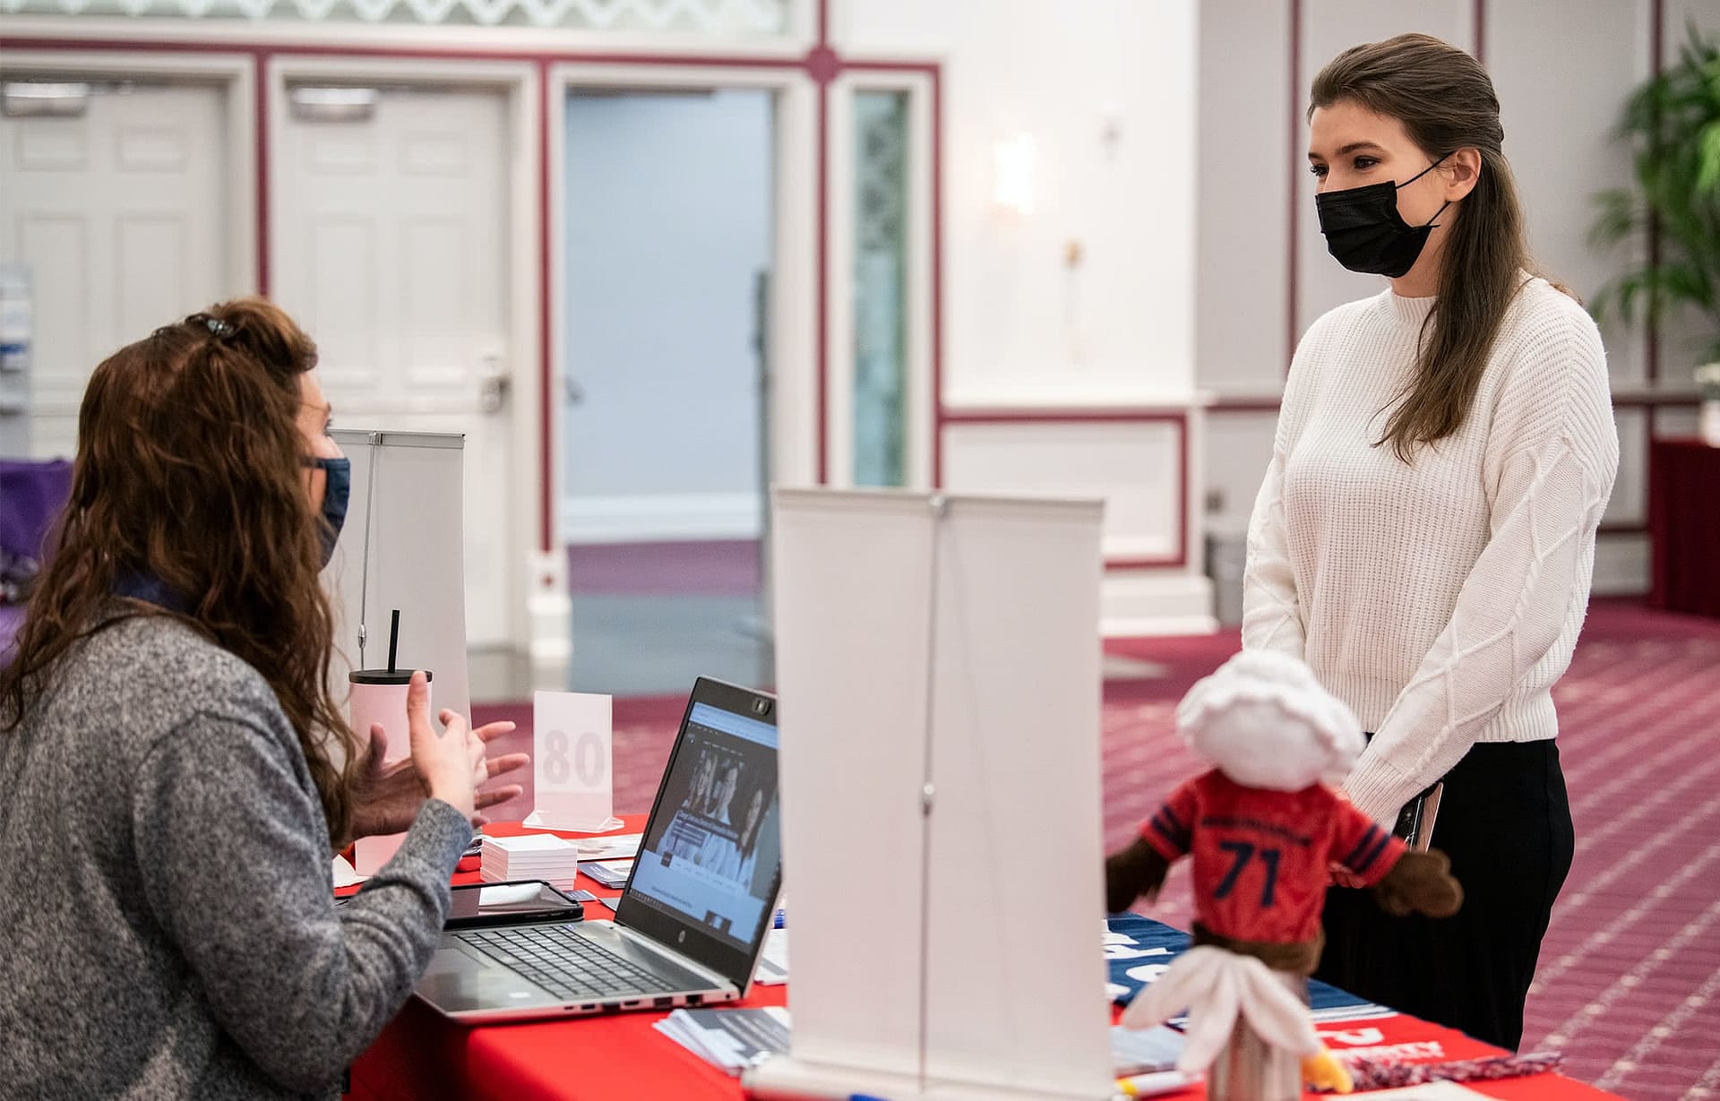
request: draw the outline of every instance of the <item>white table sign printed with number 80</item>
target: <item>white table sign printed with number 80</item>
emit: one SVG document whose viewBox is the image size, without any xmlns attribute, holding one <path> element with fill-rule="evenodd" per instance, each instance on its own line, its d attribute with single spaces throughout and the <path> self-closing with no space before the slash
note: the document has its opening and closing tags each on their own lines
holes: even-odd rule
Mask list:
<svg viewBox="0 0 1720 1101">
<path fill-rule="evenodd" d="M 531 702 L 531 772 L 544 829 L 612 827 L 614 707 L 607 695 L 538 692 Z"/>
</svg>

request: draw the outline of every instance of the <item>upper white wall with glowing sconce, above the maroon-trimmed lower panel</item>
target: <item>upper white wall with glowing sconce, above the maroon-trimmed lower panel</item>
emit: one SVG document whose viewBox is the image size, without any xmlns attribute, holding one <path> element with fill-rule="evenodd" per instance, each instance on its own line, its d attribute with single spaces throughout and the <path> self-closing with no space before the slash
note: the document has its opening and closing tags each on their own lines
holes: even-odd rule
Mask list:
<svg viewBox="0 0 1720 1101">
<path fill-rule="evenodd" d="M 1185 397 L 1195 3 L 855 0 L 832 34 L 944 60 L 946 399 Z M 992 201 L 1015 132 L 1037 148 L 1023 218 Z"/>
</svg>

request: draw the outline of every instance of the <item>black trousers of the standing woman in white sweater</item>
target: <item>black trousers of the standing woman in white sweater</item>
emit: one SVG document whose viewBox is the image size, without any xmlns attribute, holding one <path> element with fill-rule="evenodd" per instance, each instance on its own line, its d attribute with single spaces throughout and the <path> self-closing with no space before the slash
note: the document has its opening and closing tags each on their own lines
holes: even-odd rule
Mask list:
<svg viewBox="0 0 1720 1101">
<path fill-rule="evenodd" d="M 1553 741 L 1474 745 L 1445 776 L 1433 846 L 1452 858 L 1464 908 L 1448 919 L 1390 917 L 1367 891 L 1331 888 L 1314 974 L 1515 1051 L 1576 846 Z"/>
</svg>

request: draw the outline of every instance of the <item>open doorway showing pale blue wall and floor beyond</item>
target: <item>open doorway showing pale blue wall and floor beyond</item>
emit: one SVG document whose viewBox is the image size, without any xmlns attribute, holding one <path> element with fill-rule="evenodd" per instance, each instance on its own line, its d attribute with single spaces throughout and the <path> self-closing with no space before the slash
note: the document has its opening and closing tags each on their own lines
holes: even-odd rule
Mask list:
<svg viewBox="0 0 1720 1101">
<path fill-rule="evenodd" d="M 767 686 L 776 96 L 564 103 L 561 535 L 578 690 Z"/>
</svg>

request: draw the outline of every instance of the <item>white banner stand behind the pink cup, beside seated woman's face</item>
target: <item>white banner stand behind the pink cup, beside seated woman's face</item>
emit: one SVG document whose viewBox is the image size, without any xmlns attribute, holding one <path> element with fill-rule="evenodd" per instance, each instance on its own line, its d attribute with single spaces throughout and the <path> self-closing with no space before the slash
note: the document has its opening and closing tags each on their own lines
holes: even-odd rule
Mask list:
<svg viewBox="0 0 1720 1101">
<path fill-rule="evenodd" d="M 471 716 L 461 545 L 466 437 L 363 428 L 329 435 L 353 463 L 346 525 L 323 569 L 335 614 L 335 698 L 346 702 L 351 669 L 389 664 L 389 612 L 401 609 L 396 666 L 432 673 L 433 710 Z"/>
</svg>

